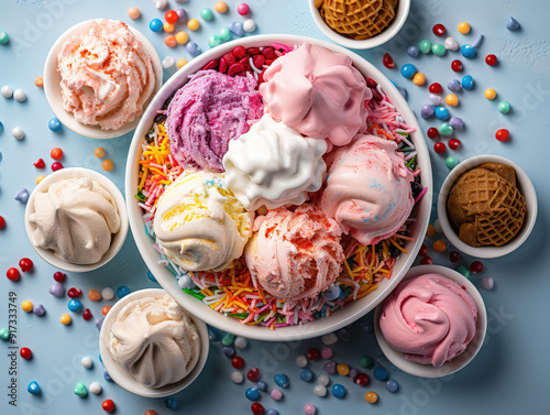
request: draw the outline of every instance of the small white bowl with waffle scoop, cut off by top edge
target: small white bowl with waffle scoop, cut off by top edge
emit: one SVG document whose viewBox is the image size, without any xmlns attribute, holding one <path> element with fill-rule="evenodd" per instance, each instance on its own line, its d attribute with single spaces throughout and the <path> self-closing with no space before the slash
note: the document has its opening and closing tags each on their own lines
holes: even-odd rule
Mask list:
<svg viewBox="0 0 550 415">
<path fill-rule="evenodd" d="M 369 50 L 399 32 L 410 0 L 309 0 L 309 9 L 317 26 L 332 42 Z"/>
</svg>

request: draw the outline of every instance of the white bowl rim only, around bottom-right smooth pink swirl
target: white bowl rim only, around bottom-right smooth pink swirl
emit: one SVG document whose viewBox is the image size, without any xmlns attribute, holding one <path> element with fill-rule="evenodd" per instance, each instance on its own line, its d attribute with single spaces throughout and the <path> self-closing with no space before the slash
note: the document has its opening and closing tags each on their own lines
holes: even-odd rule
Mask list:
<svg viewBox="0 0 550 415">
<path fill-rule="evenodd" d="M 487 331 L 487 310 L 485 309 L 485 303 L 477 291 L 477 288 L 461 273 L 451 270 L 446 266 L 440 265 L 419 265 L 411 267 L 403 281 L 413 279 L 415 276 L 420 276 L 425 274 L 440 274 L 447 276 L 449 280 L 454 281 L 460 286 L 465 286 L 468 294 L 472 296 L 477 306 L 477 323 L 475 336 L 472 341 L 468 345 L 466 350 L 462 354 L 459 354 L 454 359 L 443 363 L 440 368 L 435 368 L 431 364 L 422 364 L 413 362 L 405 359 L 405 353 L 394 350 L 384 336 L 380 328 L 380 317 L 382 309 L 384 308 L 384 303 L 376 307 L 374 312 L 374 331 L 376 334 L 376 340 L 382 349 L 382 352 L 386 358 L 394 363 L 398 369 L 406 373 L 413 374 L 420 378 L 441 378 L 447 376 L 451 373 L 458 372 L 462 368 L 465 368 L 477 354 L 481 347 L 483 346 L 483 340 L 485 340 L 485 334 Z"/>
</svg>

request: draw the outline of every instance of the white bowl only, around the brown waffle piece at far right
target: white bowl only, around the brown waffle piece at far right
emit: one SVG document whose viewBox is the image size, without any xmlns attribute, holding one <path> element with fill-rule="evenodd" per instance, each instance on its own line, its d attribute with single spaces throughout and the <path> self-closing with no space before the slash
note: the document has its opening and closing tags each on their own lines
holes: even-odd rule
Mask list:
<svg viewBox="0 0 550 415">
<path fill-rule="evenodd" d="M 452 228 L 447 212 L 447 198 L 451 193 L 454 182 L 463 173 L 484 163 L 502 163 L 514 167 L 514 170 L 516 171 L 519 190 L 521 192 L 521 195 L 524 195 L 525 203 L 527 205 L 527 214 L 525 217 L 524 227 L 512 241 L 502 247 L 471 247 L 468 243 L 462 242 L 459 238 L 459 234 Z M 527 240 L 527 238 L 531 233 L 532 228 L 535 227 L 535 222 L 537 220 L 537 193 L 535 192 L 535 187 L 532 186 L 532 183 L 527 173 L 525 173 L 521 167 L 519 167 L 516 163 L 510 162 L 508 159 L 490 154 L 476 155 L 466 159 L 457 167 L 454 167 L 443 182 L 438 198 L 438 218 L 444 236 L 447 237 L 447 239 L 449 239 L 449 242 L 451 242 L 458 250 L 476 258 L 499 258 L 518 249 Z"/>
</svg>

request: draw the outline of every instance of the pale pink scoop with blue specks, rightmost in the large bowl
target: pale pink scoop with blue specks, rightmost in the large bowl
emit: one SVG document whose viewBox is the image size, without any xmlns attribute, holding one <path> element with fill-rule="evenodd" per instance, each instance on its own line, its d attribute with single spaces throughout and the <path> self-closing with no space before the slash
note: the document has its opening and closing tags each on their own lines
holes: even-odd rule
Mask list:
<svg viewBox="0 0 550 415">
<path fill-rule="evenodd" d="M 327 184 L 316 204 L 362 244 L 389 238 L 414 200 L 413 174 L 393 141 L 358 135 L 327 159 Z"/>
</svg>

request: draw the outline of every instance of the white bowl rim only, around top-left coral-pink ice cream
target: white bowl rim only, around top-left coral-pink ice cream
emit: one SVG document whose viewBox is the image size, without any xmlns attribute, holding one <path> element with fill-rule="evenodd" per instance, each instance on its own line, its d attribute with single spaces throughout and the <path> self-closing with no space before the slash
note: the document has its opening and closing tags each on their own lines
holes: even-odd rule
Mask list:
<svg viewBox="0 0 550 415">
<path fill-rule="evenodd" d="M 46 63 L 44 65 L 44 94 L 46 95 L 47 103 L 50 103 L 52 111 L 54 111 L 55 117 L 57 117 L 63 125 L 67 127 L 77 134 L 90 139 L 112 139 L 132 131 L 140 122 L 141 117 L 135 117 L 133 121 L 123 124 L 118 130 L 101 130 L 101 128 L 98 125 L 85 125 L 76 121 L 75 117 L 70 112 L 65 111 L 65 109 L 63 108 L 61 88 L 62 77 L 57 72 L 57 55 L 59 54 L 63 44 L 68 37 L 77 34 L 88 33 L 90 22 L 91 20 L 87 20 L 85 22 L 75 24 L 73 28 L 63 33 L 50 50 L 46 57 Z M 132 31 L 135 37 L 141 43 L 143 43 L 145 51 L 147 51 L 147 53 L 153 58 L 155 88 L 151 94 L 151 97 L 145 101 L 143 106 L 143 110 L 145 110 L 153 96 L 158 91 L 158 89 L 161 89 L 161 86 L 163 85 L 163 66 L 161 64 L 161 58 L 158 57 L 158 54 L 156 53 L 156 50 L 153 47 L 151 42 L 136 29 L 132 28 L 131 25 L 129 25 L 128 28 Z"/>
</svg>

